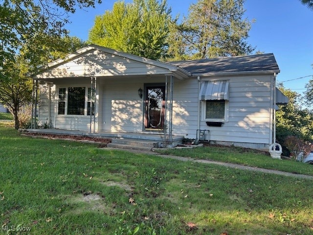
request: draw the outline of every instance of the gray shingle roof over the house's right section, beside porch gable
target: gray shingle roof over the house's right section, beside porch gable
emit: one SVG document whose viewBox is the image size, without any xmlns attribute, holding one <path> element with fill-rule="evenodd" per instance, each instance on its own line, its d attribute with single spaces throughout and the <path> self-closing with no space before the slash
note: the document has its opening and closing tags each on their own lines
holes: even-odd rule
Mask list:
<svg viewBox="0 0 313 235">
<path fill-rule="evenodd" d="M 169 62 L 169 64 L 179 66 L 191 74 L 257 71 L 279 72 L 273 53 L 215 59 L 174 61 Z"/>
</svg>

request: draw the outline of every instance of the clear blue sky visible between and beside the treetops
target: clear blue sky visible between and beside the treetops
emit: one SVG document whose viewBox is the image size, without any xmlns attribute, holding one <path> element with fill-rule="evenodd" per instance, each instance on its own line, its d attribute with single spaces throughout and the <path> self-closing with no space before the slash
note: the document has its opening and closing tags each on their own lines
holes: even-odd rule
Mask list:
<svg viewBox="0 0 313 235">
<path fill-rule="evenodd" d="M 129 2 L 130 0 L 125 0 Z M 70 17 L 67 29 L 71 36 L 88 39 L 89 29 L 96 15 L 111 10 L 115 0 L 103 0 L 96 7 L 78 10 Z M 197 0 L 168 0 L 173 17 L 187 16 L 191 3 Z M 313 74 L 313 11 L 300 0 L 246 0 L 245 17 L 252 21 L 248 43 L 256 50 L 274 53 L 280 73 L 277 81 L 296 79 Z M 302 93 L 313 77 L 284 82 L 284 86 Z"/>
</svg>

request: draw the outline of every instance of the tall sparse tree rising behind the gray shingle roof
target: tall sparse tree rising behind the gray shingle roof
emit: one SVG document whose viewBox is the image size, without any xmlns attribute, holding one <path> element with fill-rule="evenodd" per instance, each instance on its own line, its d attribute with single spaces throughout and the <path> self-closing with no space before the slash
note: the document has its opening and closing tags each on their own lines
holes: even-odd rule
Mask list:
<svg viewBox="0 0 313 235">
<path fill-rule="evenodd" d="M 251 53 L 246 39 L 251 24 L 243 19 L 245 0 L 198 0 L 191 4 L 189 15 L 176 28 L 176 42 L 191 59 Z M 170 51 L 175 51 L 170 45 Z M 175 53 L 174 53 L 175 54 Z"/>
</svg>

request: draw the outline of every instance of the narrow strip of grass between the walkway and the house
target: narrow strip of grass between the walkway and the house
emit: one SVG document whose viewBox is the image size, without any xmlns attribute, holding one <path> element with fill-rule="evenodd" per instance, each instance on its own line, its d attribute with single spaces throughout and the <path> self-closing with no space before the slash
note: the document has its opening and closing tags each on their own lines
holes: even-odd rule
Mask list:
<svg viewBox="0 0 313 235">
<path fill-rule="evenodd" d="M 313 175 L 313 165 L 290 160 L 272 159 L 269 153 L 234 146 L 209 145 L 194 149 L 159 149 L 169 154 L 194 159 L 214 160 L 225 163 L 242 164 L 252 167 L 273 169 L 295 174 Z"/>
</svg>

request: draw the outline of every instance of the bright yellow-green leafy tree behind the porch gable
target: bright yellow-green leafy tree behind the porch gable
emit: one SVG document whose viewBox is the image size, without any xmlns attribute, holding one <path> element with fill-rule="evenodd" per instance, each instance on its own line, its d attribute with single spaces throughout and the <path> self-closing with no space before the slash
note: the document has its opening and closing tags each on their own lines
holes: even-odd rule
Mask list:
<svg viewBox="0 0 313 235">
<path fill-rule="evenodd" d="M 95 18 L 88 41 L 158 60 L 166 57 L 170 22 L 166 0 L 118 1 L 111 11 Z"/>
</svg>

